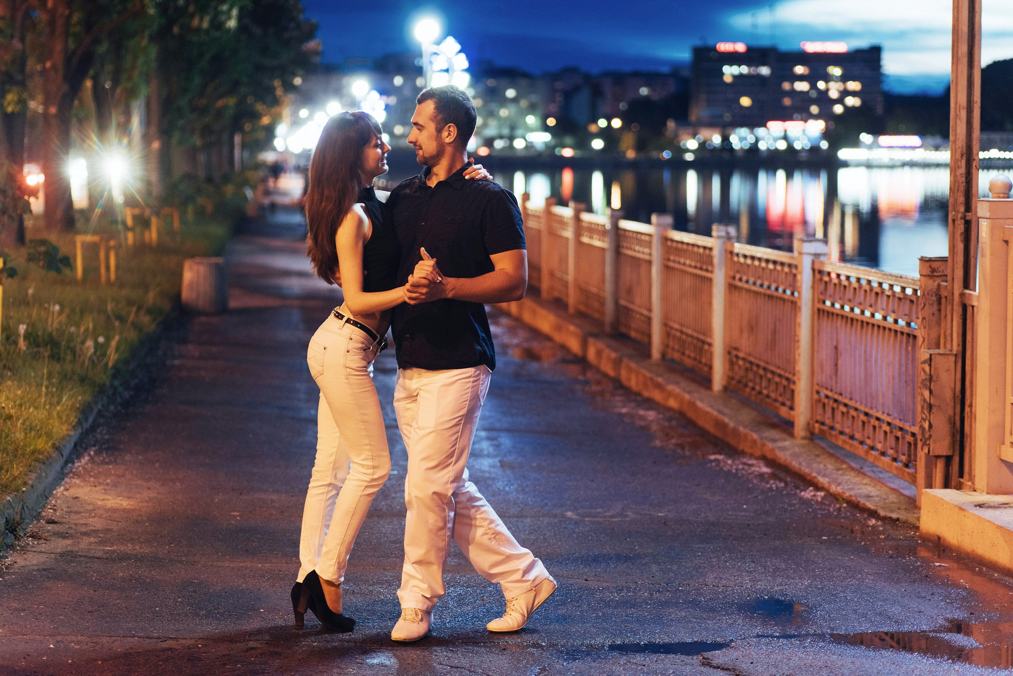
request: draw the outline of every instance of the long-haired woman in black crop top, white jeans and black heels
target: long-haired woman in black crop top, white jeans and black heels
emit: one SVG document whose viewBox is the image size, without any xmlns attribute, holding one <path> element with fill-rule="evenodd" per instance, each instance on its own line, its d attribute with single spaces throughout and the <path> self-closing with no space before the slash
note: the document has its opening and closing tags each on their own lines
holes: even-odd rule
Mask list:
<svg viewBox="0 0 1013 676">
<path fill-rule="evenodd" d="M 350 631 L 341 581 L 366 513 L 390 472 L 390 453 L 373 360 L 386 343 L 390 310 L 404 302 L 396 285 L 400 249 L 373 180 L 387 172 L 380 125 L 362 111 L 324 125 L 310 162 L 307 245 L 317 275 L 339 279 L 344 303 L 310 340 L 307 361 L 320 388 L 317 453 L 306 494 L 300 571 L 292 588 L 296 624 L 306 609 L 324 626 Z M 481 166 L 468 178 L 486 178 Z M 340 274 L 338 275 L 338 270 Z"/>
</svg>

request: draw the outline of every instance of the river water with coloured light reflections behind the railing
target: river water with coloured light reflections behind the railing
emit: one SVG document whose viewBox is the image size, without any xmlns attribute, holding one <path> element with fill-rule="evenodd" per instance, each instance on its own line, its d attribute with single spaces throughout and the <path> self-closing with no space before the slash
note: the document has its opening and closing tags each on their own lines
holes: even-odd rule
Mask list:
<svg viewBox="0 0 1013 676">
<path fill-rule="evenodd" d="M 1000 170 L 981 173 L 980 184 Z M 919 256 L 945 256 L 946 167 L 642 169 L 518 171 L 514 191 L 554 196 L 605 214 L 650 222 L 672 214 L 677 230 L 710 234 L 734 224 L 738 240 L 790 250 L 796 235 L 826 237 L 829 258 L 918 275 Z M 987 191 L 983 192 L 987 196 Z"/>
</svg>

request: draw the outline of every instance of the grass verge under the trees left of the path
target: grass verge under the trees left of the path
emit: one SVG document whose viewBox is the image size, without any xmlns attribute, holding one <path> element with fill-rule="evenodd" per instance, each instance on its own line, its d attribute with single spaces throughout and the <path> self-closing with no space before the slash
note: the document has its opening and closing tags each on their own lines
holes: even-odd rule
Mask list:
<svg viewBox="0 0 1013 676">
<path fill-rule="evenodd" d="M 178 236 L 161 234 L 157 248 L 141 241 L 127 248 L 115 223 L 99 224 L 91 232 L 119 244 L 116 280 L 105 284 L 95 245 L 84 248 L 81 281 L 73 269 L 56 274 L 26 262 L 23 248 L 5 252 L 18 274 L 3 280 L 0 500 L 21 490 L 82 410 L 114 386 L 141 339 L 175 306 L 183 260 L 219 253 L 234 221 L 184 219 Z M 46 237 L 35 232 L 28 230 L 29 240 Z M 74 262 L 74 233 L 49 239 Z"/>
</svg>

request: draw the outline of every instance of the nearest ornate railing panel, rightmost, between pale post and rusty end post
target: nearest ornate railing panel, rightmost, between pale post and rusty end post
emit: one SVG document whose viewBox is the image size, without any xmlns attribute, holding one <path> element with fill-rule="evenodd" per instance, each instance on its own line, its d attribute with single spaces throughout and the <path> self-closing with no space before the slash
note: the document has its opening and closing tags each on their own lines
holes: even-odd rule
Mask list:
<svg viewBox="0 0 1013 676">
<path fill-rule="evenodd" d="M 918 448 L 918 279 L 814 261 L 812 431 L 906 481 Z"/>
</svg>

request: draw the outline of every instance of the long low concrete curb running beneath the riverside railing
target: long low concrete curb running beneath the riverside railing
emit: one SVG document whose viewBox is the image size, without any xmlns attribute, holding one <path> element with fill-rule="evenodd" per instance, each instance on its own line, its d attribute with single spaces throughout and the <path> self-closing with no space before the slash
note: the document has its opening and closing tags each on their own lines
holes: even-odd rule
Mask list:
<svg viewBox="0 0 1013 676">
<path fill-rule="evenodd" d="M 582 357 L 637 394 L 684 414 L 738 450 L 771 460 L 843 500 L 899 521 L 919 523 L 915 501 L 856 470 L 813 441 L 794 438 L 773 417 L 711 392 L 678 366 L 651 361 L 647 347 L 602 334 L 601 325 L 561 304 L 526 298 L 495 306 Z"/>
</svg>

